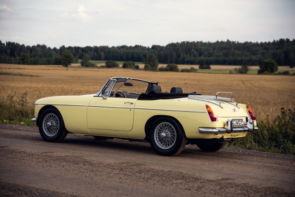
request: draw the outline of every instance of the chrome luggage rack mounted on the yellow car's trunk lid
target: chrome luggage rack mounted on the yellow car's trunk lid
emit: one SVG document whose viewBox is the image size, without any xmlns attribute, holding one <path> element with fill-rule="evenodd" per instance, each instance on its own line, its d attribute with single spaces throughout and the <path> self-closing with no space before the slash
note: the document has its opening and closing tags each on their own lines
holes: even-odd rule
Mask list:
<svg viewBox="0 0 295 197">
<path fill-rule="evenodd" d="M 231 94 L 231 97 L 219 97 L 217 96 L 219 93 L 224 93 L 224 94 Z M 219 106 L 220 108 L 223 109 L 223 107 L 221 106 L 222 103 L 227 102 L 228 104 L 234 105 L 235 107 L 239 108 L 238 103 L 233 101 L 234 98 L 232 98 L 232 92 L 217 92 L 216 96 L 210 96 L 210 95 L 188 95 L 189 99 L 195 99 L 195 100 L 201 100 L 201 101 L 205 101 L 205 102 L 210 102 L 214 105 Z M 232 103 L 231 103 L 232 102 Z M 235 103 L 235 104 L 233 104 Z"/>
</svg>

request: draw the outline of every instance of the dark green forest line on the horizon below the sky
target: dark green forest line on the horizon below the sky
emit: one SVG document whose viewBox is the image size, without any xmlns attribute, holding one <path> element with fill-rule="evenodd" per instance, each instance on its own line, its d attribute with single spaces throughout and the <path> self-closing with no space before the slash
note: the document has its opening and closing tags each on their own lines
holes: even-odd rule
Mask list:
<svg viewBox="0 0 295 197">
<path fill-rule="evenodd" d="M 0 63 L 9 64 L 62 64 L 61 55 L 66 50 L 73 54 L 73 63 L 83 59 L 85 54 L 91 60 L 113 60 L 146 62 L 148 54 L 155 54 L 162 64 L 208 64 L 218 65 L 259 65 L 271 58 L 278 65 L 295 64 L 295 40 L 279 39 L 272 42 L 180 42 L 166 46 L 61 46 L 50 48 L 46 45 L 25 46 L 19 43 L 0 41 Z"/>
</svg>

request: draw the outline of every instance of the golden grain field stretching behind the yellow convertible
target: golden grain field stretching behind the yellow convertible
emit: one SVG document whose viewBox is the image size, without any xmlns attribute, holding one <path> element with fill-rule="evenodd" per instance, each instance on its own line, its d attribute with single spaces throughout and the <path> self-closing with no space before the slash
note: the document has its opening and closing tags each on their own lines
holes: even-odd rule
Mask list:
<svg viewBox="0 0 295 197">
<path fill-rule="evenodd" d="M 171 87 L 182 87 L 183 92 L 203 95 L 215 95 L 218 91 L 233 92 L 235 101 L 250 105 L 258 120 L 265 120 L 266 115 L 276 117 L 282 107 L 295 108 L 294 76 L 153 72 L 71 66 L 67 71 L 63 66 L 13 64 L 0 64 L 0 102 L 5 104 L 10 99 L 17 100 L 19 95 L 26 93 L 25 102 L 29 108 L 33 108 L 35 100 L 42 97 L 94 94 L 107 79 L 114 76 L 159 82 L 163 92 L 169 92 Z M 14 98 L 12 95 L 15 95 Z"/>
</svg>

